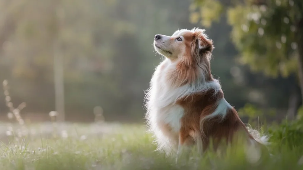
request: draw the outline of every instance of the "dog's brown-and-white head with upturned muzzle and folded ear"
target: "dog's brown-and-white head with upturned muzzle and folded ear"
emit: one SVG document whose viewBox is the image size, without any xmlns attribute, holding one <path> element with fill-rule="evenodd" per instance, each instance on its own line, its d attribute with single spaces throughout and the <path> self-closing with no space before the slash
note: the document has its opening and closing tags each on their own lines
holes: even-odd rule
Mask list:
<svg viewBox="0 0 303 170">
<path fill-rule="evenodd" d="M 213 50 L 213 41 L 204 34 L 204 29 L 177 30 L 172 36 L 155 35 L 154 48 L 161 55 L 176 61 L 194 59 L 209 61 Z"/>
</svg>

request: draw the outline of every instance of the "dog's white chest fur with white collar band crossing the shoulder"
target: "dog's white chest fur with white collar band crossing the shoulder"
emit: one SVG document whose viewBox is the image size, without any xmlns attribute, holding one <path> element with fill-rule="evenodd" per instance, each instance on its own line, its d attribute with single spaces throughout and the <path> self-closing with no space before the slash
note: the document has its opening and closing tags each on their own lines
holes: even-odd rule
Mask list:
<svg viewBox="0 0 303 170">
<path fill-rule="evenodd" d="M 165 59 L 158 65 L 151 78 L 150 88 L 146 94 L 147 118 L 153 128 L 151 130 L 157 129 L 158 123 L 167 123 L 174 130 L 180 128 L 180 119 L 184 114 L 184 109 L 176 104 L 178 99 L 195 92 L 207 91 L 210 88 L 214 89 L 215 93 L 221 90 L 217 80 L 174 87 L 168 80 L 174 69 L 176 69 L 176 64 Z"/>
</svg>

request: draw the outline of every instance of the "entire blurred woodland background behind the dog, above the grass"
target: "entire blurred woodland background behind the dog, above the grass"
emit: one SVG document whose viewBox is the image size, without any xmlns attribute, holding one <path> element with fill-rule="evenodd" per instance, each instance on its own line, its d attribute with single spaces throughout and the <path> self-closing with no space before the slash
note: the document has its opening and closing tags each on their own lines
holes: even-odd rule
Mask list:
<svg viewBox="0 0 303 170">
<path fill-rule="evenodd" d="M 0 0 L 0 11 L 2 121 L 21 110 L 31 122 L 51 111 L 144 122 L 155 34 L 194 27 L 214 40 L 212 73 L 244 122 L 302 112 L 301 0 Z"/>
</svg>

